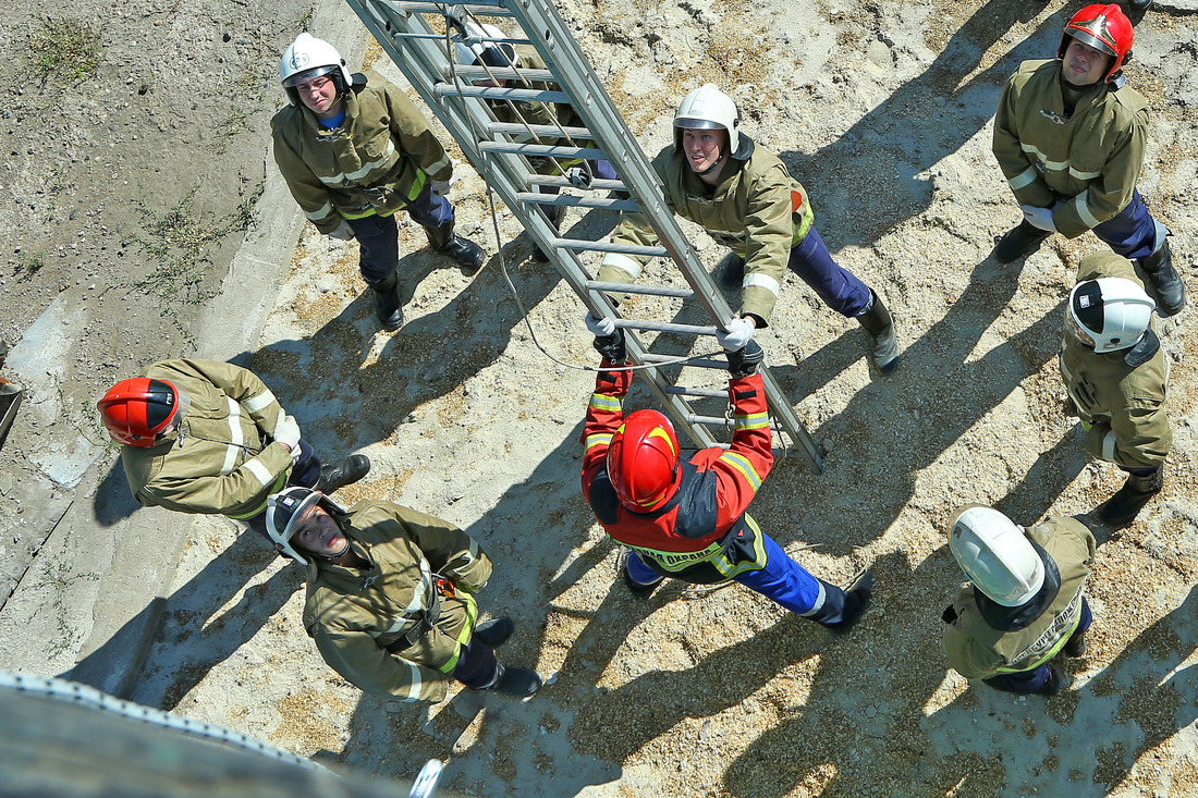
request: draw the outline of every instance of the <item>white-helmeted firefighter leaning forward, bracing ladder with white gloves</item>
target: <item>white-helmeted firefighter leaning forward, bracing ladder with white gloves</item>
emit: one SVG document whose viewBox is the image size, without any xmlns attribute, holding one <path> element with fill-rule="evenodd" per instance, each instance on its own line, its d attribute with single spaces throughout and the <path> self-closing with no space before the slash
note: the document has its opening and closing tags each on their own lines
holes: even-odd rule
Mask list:
<svg viewBox="0 0 1198 798">
<path fill-rule="evenodd" d="M 898 367 L 898 341 L 882 298 L 831 259 L 815 228 L 806 189 L 773 152 L 740 132 L 732 98 L 703 84 L 688 93 L 673 120 L 673 144 L 653 159 L 666 205 L 733 249 L 721 274 L 725 288 L 742 288 L 740 312 L 720 344 L 742 349 L 769 324 L 789 266 L 828 307 L 857 319 L 871 337 L 871 357 L 883 374 Z M 653 246 L 657 234 L 640 214 L 622 214 L 612 242 Z M 647 258 L 609 253 L 599 279 L 631 283 Z M 622 295 L 611 296 L 618 302 Z"/>
</svg>

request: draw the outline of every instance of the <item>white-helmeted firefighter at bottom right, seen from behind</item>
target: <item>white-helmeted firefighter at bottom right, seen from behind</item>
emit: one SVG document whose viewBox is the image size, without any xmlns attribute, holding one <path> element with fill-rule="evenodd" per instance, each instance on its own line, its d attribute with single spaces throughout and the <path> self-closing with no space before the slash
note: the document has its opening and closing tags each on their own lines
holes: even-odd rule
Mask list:
<svg viewBox="0 0 1198 798">
<path fill-rule="evenodd" d="M 949 525 L 949 549 L 969 578 L 942 616 L 949 665 L 1006 693 L 1057 693 L 1060 675 L 1048 660 L 1087 648 L 1094 534 L 1072 518 L 1024 530 L 969 504 Z"/>
</svg>

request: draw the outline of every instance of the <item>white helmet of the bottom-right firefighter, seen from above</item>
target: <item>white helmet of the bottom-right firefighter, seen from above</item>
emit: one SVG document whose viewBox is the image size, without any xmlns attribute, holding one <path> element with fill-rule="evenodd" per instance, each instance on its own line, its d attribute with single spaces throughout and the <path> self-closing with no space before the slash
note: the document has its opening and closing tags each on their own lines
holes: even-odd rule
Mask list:
<svg viewBox="0 0 1198 798">
<path fill-rule="evenodd" d="M 949 549 L 974 587 L 997 604 L 1027 604 L 1043 587 L 1045 563 L 1023 527 L 992 507 L 969 504 L 957 513 Z"/>
</svg>

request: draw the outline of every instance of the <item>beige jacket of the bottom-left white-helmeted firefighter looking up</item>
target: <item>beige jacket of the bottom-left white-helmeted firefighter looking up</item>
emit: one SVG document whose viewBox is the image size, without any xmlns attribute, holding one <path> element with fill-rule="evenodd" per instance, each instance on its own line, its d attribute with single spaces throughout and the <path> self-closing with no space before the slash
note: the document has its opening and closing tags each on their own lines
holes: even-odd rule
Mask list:
<svg viewBox="0 0 1198 798">
<path fill-rule="evenodd" d="M 325 661 L 362 690 L 441 701 L 473 634 L 471 593 L 491 578 L 490 558 L 453 524 L 393 502 L 358 502 L 341 528 L 370 568 L 309 561 L 304 628 Z M 435 573 L 452 581 L 458 596 L 442 598 L 440 617 L 415 645 L 397 643 L 429 607 Z"/>
</svg>

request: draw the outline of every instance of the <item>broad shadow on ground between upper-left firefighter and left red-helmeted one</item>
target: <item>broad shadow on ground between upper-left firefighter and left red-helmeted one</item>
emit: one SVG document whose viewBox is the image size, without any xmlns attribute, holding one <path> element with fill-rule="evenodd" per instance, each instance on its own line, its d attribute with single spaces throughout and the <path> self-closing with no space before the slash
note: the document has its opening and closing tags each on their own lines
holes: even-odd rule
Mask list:
<svg viewBox="0 0 1198 798">
<path fill-rule="evenodd" d="M 532 309 L 562 278 L 518 258 L 521 248 L 508 242 L 503 254 L 524 307 Z M 416 262 L 420 258 L 441 259 L 420 253 Z M 425 265 L 423 273 L 432 268 Z M 309 338 L 278 340 L 253 352 L 252 369 L 284 399 L 304 437 L 332 458 L 334 451 L 386 440 L 416 407 L 452 393 L 494 363 L 522 319 L 492 255 L 444 307 L 411 319 L 395 333 L 377 331 L 367 289 Z"/>
</svg>

